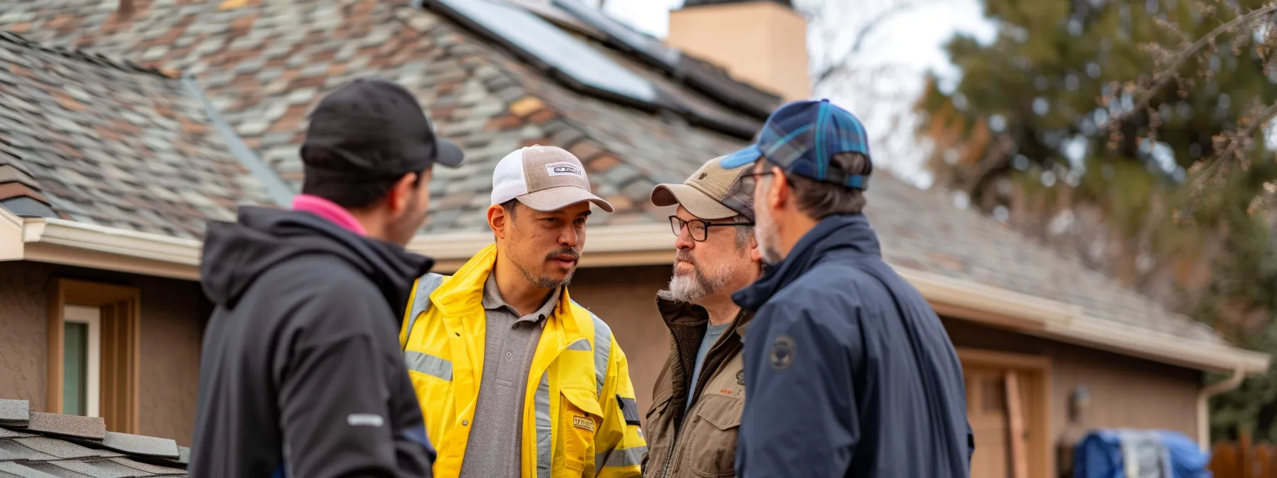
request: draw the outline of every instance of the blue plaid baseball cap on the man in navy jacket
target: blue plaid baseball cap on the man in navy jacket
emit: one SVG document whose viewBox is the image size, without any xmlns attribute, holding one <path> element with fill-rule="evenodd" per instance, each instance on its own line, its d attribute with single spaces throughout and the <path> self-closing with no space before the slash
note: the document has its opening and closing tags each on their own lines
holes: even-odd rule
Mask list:
<svg viewBox="0 0 1277 478">
<path fill-rule="evenodd" d="M 866 189 L 868 175 L 850 175 L 830 167 L 829 159 L 838 153 L 861 153 L 870 158 L 865 125 L 829 99 L 806 99 L 773 112 L 753 144 L 723 157 L 719 164 L 730 170 L 764 158 L 788 173 Z"/>
</svg>

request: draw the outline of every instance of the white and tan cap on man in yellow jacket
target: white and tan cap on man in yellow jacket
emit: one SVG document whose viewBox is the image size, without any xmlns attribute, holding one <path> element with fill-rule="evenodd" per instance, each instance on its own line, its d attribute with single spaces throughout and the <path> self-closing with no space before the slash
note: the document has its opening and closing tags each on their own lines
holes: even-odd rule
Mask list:
<svg viewBox="0 0 1277 478">
<path fill-rule="evenodd" d="M 516 149 L 497 163 L 492 173 L 492 204 L 511 199 L 536 210 L 590 201 L 612 212 L 612 204 L 590 191 L 581 159 L 563 148 L 540 144 Z"/>
</svg>

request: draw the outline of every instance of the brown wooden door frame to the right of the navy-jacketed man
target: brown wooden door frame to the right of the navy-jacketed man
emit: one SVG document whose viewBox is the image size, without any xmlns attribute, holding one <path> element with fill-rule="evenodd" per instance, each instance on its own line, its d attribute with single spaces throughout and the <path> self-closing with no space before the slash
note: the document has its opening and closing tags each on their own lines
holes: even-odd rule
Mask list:
<svg viewBox="0 0 1277 478">
<path fill-rule="evenodd" d="M 1029 428 L 1029 447 L 1037 450 L 1038 460 L 1031 460 L 1029 475 L 1050 478 L 1055 463 L 1055 447 L 1051 446 L 1051 359 L 1045 356 L 997 352 L 978 348 L 956 347 L 958 359 L 963 367 L 1004 368 L 1022 372 L 1029 377 L 1024 404 L 1029 408 L 1024 414 Z M 976 444 L 979 449 L 979 444 Z M 1010 450 L 1008 450 L 1010 451 Z"/>
</svg>

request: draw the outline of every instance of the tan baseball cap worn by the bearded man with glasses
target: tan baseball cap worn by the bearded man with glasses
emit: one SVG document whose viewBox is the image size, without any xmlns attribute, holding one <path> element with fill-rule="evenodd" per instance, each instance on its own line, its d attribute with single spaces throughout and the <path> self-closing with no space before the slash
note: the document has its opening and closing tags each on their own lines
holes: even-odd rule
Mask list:
<svg viewBox="0 0 1277 478">
<path fill-rule="evenodd" d="M 651 190 L 651 204 L 678 204 L 701 219 L 727 219 L 739 214 L 752 222 L 753 191 L 744 190 L 741 181 L 752 163 L 725 170 L 719 159 L 723 158 L 710 159 L 681 185 L 656 185 Z"/>
</svg>

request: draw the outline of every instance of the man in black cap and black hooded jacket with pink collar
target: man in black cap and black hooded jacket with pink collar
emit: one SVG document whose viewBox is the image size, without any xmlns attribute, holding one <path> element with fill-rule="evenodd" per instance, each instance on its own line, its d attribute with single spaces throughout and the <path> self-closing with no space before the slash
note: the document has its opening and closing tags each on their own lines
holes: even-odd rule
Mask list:
<svg viewBox="0 0 1277 478">
<path fill-rule="evenodd" d="M 211 223 L 217 305 L 200 357 L 192 477 L 429 477 L 434 450 L 398 347 L 437 139 L 402 87 L 355 80 L 319 102 L 292 210 Z"/>
</svg>

